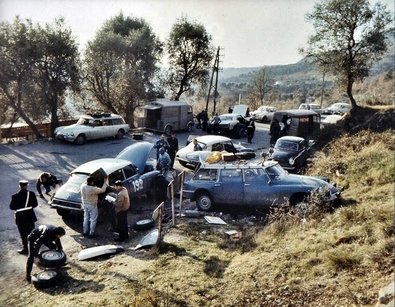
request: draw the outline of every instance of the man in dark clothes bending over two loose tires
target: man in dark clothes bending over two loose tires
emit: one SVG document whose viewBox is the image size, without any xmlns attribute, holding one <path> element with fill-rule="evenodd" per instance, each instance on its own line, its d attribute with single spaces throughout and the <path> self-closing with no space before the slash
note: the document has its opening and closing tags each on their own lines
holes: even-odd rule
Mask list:
<svg viewBox="0 0 395 307">
<path fill-rule="evenodd" d="M 26 263 L 26 280 L 31 282 L 31 273 L 33 268 L 34 257 L 38 257 L 41 245 L 47 246 L 49 249 L 57 249 L 62 251 L 62 243 L 60 238 L 66 234 L 63 227 L 52 225 L 40 225 L 32 230 L 29 234 L 29 256 Z"/>
</svg>

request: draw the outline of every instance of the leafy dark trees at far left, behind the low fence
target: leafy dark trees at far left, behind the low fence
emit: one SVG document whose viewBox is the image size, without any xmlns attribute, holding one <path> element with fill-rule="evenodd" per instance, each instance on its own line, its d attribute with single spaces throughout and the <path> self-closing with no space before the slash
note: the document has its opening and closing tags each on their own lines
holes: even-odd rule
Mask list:
<svg viewBox="0 0 395 307">
<path fill-rule="evenodd" d="M 6 103 L 42 137 L 34 122 L 51 116 L 59 125 L 58 109 L 68 88 L 78 84 L 78 51 L 63 20 L 44 28 L 15 18 L 0 25 L 0 91 Z"/>
</svg>

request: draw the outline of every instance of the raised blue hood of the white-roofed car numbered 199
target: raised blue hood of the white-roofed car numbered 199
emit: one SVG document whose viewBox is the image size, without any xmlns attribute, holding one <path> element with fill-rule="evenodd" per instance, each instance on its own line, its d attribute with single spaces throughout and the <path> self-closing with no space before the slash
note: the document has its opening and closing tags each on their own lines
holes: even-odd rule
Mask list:
<svg viewBox="0 0 395 307">
<path fill-rule="evenodd" d="M 115 158 L 130 161 L 139 169 L 139 174 L 144 172 L 149 154 L 154 144 L 149 142 L 137 142 L 125 147 Z"/>
</svg>

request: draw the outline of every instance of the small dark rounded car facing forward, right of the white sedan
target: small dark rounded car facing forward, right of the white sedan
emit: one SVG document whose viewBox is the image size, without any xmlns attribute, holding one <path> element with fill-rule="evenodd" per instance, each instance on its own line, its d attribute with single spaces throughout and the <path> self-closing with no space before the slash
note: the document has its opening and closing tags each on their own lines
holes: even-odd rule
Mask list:
<svg viewBox="0 0 395 307">
<path fill-rule="evenodd" d="M 283 136 L 270 148 L 266 157 L 277 161 L 289 172 L 298 172 L 307 164 L 311 154 L 311 142 L 298 136 Z"/>
</svg>

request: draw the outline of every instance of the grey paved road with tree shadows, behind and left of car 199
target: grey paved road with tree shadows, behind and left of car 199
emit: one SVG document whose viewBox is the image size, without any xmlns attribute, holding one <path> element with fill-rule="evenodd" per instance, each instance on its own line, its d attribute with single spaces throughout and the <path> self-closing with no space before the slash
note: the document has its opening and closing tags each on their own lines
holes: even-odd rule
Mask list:
<svg viewBox="0 0 395 307">
<path fill-rule="evenodd" d="M 202 135 L 204 132 L 195 130 L 191 134 Z M 179 133 L 180 147 L 185 146 L 189 133 Z M 155 142 L 158 134 L 144 132 L 144 140 Z M 6 278 L 6 274 L 21 273 L 24 268 L 25 257 L 16 253 L 20 248 L 20 239 L 14 224 L 13 211 L 9 210 L 11 195 L 18 190 L 20 179 L 29 180 L 29 189 L 35 190 L 35 181 L 41 172 L 51 172 L 64 181 L 75 167 L 90 160 L 115 157 L 123 148 L 136 142 L 130 135 L 122 140 L 101 140 L 88 142 L 83 146 L 69 143 L 54 142 L 50 140 L 37 141 L 29 144 L 0 145 L 0 275 Z M 259 155 L 269 145 L 268 125 L 256 124 L 256 133 L 252 144 L 246 143 L 246 139 L 234 140 L 235 143 L 257 150 Z M 176 168 L 182 169 L 179 164 Z M 50 209 L 45 200 L 38 198 L 39 207 L 35 210 L 38 217 L 37 224 L 49 223 L 64 225 L 65 222 Z M 79 223 L 79 222 L 78 222 Z M 78 242 L 81 225 L 67 224 L 67 236 L 64 238 L 64 246 Z M 107 243 L 106 243 L 107 244 Z M 12 259 L 12 261 L 10 261 Z M 6 264 L 6 265 L 3 265 Z"/>
</svg>

